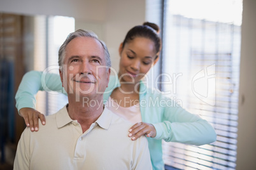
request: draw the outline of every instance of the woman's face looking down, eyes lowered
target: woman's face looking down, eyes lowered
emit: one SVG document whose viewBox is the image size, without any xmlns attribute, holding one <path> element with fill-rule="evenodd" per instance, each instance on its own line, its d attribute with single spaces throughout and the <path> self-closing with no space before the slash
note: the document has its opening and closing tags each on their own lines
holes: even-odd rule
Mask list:
<svg viewBox="0 0 256 170">
<path fill-rule="evenodd" d="M 150 68 L 157 62 L 155 57 L 155 44 L 152 40 L 144 37 L 136 37 L 119 48 L 120 81 L 139 82 Z"/>
</svg>

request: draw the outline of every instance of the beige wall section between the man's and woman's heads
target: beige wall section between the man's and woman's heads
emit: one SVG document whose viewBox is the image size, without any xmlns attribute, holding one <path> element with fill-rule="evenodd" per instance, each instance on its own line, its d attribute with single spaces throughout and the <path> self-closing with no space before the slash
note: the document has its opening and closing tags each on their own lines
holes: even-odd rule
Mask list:
<svg viewBox="0 0 256 170">
<path fill-rule="evenodd" d="M 145 22 L 145 0 L 108 0 L 106 13 L 106 44 L 112 67 L 119 68 L 118 48 L 125 34 L 135 25 Z"/>
</svg>

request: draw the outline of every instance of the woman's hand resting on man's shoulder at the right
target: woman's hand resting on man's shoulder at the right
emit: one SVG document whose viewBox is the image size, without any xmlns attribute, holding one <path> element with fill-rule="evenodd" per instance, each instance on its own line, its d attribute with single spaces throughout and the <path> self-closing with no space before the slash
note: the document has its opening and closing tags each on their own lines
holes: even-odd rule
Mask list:
<svg viewBox="0 0 256 170">
<path fill-rule="evenodd" d="M 140 136 L 145 135 L 146 137 L 155 138 L 157 135 L 157 131 L 155 131 L 155 127 L 153 124 L 148 124 L 145 122 L 138 122 L 129 129 L 128 136 L 132 138 L 132 140 L 137 140 Z"/>
</svg>

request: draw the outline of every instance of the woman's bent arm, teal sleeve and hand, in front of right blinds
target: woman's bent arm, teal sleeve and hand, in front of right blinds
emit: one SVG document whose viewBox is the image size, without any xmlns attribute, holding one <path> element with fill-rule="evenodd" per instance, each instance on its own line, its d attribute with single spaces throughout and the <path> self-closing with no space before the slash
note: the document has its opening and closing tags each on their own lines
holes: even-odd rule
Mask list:
<svg viewBox="0 0 256 170">
<path fill-rule="evenodd" d="M 150 103 L 150 98 L 155 103 Z M 190 145 L 204 145 L 216 141 L 217 134 L 211 124 L 190 114 L 173 100 L 153 94 L 145 95 L 143 100 L 146 101 L 146 106 L 141 107 L 143 122 L 134 124 L 129 130 L 132 140 L 146 135 L 156 140 Z M 170 106 L 170 103 L 173 105 Z"/>
</svg>

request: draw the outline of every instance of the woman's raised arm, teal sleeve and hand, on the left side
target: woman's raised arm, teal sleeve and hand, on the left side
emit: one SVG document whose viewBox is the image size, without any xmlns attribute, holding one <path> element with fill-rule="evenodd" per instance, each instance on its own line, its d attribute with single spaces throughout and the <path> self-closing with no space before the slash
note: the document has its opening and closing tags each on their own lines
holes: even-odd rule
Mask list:
<svg viewBox="0 0 256 170">
<path fill-rule="evenodd" d="M 35 110 L 35 96 L 39 90 L 62 92 L 60 76 L 58 74 L 43 74 L 43 72 L 31 71 L 27 72 L 22 78 L 15 96 L 16 107 L 18 113 L 24 118 L 25 124 L 30 126 L 31 131 L 38 131 L 38 119 L 41 119 L 42 124 L 45 124 L 45 116 Z"/>
</svg>

